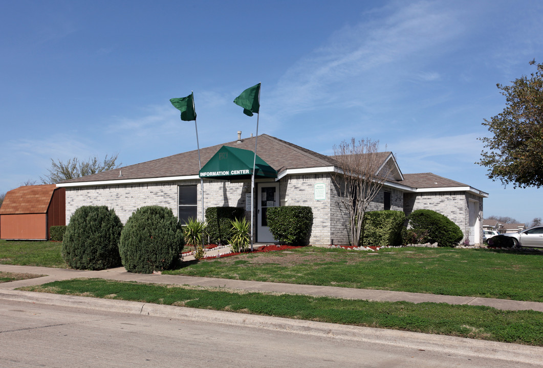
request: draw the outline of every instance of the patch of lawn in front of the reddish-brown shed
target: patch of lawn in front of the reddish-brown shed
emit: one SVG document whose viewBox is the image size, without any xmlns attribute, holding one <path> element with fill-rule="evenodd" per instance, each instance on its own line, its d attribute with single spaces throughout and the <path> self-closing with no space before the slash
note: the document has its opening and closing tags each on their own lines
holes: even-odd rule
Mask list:
<svg viewBox="0 0 543 368">
<path fill-rule="evenodd" d="M 61 250 L 61 242 L 0 240 L 0 263 L 68 268 Z"/>
</svg>

